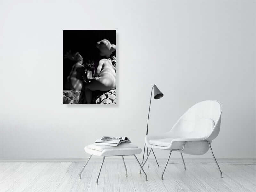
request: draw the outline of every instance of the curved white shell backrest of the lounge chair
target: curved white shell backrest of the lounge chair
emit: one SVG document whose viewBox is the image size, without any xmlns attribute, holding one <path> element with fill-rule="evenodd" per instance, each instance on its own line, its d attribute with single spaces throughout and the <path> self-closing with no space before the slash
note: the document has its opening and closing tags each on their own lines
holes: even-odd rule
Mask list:
<svg viewBox="0 0 256 192">
<path fill-rule="evenodd" d="M 169 133 L 176 138 L 202 138 L 212 142 L 220 132 L 222 106 L 219 101 L 202 101 L 185 112 Z"/>
</svg>

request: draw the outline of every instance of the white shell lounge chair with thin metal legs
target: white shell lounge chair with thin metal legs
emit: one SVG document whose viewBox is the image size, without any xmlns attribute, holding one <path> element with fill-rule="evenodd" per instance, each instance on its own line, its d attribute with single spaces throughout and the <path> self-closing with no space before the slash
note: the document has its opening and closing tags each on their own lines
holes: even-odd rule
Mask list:
<svg viewBox="0 0 256 192">
<path fill-rule="evenodd" d="M 182 153 L 203 155 L 209 148 L 212 152 L 212 140 L 215 139 L 220 132 L 221 113 L 222 106 L 219 101 L 207 100 L 195 104 L 180 117 L 169 132 L 157 135 L 147 135 L 145 137 L 146 146 L 151 148 L 148 156 L 150 155 L 152 148 L 169 150 L 170 154 L 164 167 L 165 171 L 172 151 L 179 151 L 184 164 L 184 169 L 186 169 Z M 220 171 L 220 178 L 222 178 L 222 172 L 213 152 L 212 156 Z M 162 173 L 162 179 L 164 171 Z"/>
</svg>

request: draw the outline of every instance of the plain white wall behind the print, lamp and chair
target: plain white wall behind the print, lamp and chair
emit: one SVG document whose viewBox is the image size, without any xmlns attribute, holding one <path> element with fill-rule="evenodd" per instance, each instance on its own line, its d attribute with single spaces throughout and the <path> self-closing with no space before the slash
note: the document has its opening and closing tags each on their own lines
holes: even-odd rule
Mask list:
<svg viewBox="0 0 256 192">
<path fill-rule="evenodd" d="M 1 1 L 1 159 L 85 158 L 102 135 L 142 148 L 153 84 L 164 97 L 149 133 L 219 100 L 216 157 L 255 158 L 254 12 L 255 1 Z M 62 104 L 63 29 L 116 29 L 117 106 Z"/>
</svg>

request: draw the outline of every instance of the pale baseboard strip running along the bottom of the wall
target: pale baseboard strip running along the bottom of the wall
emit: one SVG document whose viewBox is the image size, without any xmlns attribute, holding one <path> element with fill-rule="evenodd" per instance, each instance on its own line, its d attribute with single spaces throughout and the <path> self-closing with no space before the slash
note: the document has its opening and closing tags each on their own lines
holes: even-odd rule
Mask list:
<svg viewBox="0 0 256 192">
<path fill-rule="evenodd" d="M 56 158 L 56 159 L 2 159 L 0 162 L 6 162 L 6 161 L 86 161 L 88 158 Z M 102 158 L 92 158 L 93 161 L 102 161 Z M 119 161 L 120 158 L 114 156 L 114 157 L 107 157 L 106 161 Z M 126 161 L 133 160 L 132 158 L 126 158 Z M 141 162 L 142 158 L 138 158 L 138 160 Z M 158 162 L 165 162 L 166 158 L 157 158 Z M 200 163 L 200 162 L 214 162 L 212 158 L 186 158 L 184 159 L 186 163 Z M 155 160 L 153 158 L 149 158 L 150 162 L 154 162 Z M 171 162 L 180 162 L 180 158 L 172 158 L 170 159 Z M 217 159 L 218 162 L 243 162 L 243 161 L 252 161 L 256 163 L 256 158 L 219 158 Z"/>
</svg>

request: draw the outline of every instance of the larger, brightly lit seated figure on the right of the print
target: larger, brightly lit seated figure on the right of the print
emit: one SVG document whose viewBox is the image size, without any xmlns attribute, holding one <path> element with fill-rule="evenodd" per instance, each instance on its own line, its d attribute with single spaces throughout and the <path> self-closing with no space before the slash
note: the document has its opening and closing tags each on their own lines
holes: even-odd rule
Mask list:
<svg viewBox="0 0 256 192">
<path fill-rule="evenodd" d="M 92 91 L 108 91 L 116 88 L 116 68 L 111 60 L 107 58 L 116 50 L 116 45 L 110 44 L 106 39 L 97 42 L 101 59 L 96 63 L 94 79 L 85 85 L 84 103 L 90 104 L 92 101 Z"/>
</svg>

